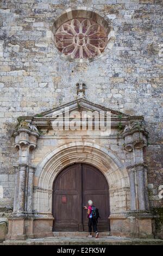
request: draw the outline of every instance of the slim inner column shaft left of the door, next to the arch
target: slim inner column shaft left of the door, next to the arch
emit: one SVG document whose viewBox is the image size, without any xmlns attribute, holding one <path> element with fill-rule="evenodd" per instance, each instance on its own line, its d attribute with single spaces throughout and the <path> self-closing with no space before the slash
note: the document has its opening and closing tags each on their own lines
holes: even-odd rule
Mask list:
<svg viewBox="0 0 163 256">
<path fill-rule="evenodd" d="M 35 168 L 28 168 L 28 188 L 27 188 L 27 213 L 32 214 L 33 211 L 33 177 Z"/>
</svg>

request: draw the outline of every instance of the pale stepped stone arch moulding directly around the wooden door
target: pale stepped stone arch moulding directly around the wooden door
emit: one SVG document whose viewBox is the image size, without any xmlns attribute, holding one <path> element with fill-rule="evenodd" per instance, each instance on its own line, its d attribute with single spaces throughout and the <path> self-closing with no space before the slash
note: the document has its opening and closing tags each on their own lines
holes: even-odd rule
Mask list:
<svg viewBox="0 0 163 256">
<path fill-rule="evenodd" d="M 90 142 L 72 142 L 49 153 L 37 166 L 34 176 L 34 210 L 39 215 L 52 215 L 53 182 L 59 172 L 72 163 L 88 163 L 104 174 L 109 185 L 110 213 L 129 208 L 129 177 L 126 168 L 108 149 Z"/>
</svg>

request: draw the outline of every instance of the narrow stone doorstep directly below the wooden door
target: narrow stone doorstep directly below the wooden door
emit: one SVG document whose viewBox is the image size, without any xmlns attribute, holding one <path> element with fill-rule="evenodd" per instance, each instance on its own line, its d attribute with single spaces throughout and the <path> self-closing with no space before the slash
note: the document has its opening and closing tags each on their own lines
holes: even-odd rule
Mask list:
<svg viewBox="0 0 163 256">
<path fill-rule="evenodd" d="M 53 236 L 61 236 L 61 237 L 85 237 L 87 236 L 89 233 L 88 232 L 85 232 L 85 231 L 54 231 L 53 232 Z M 102 232 L 99 232 L 100 236 L 101 237 L 107 237 L 107 236 L 110 236 L 111 235 L 111 232 L 110 231 L 102 231 Z M 95 236 L 95 233 L 92 233 L 93 236 Z"/>
</svg>

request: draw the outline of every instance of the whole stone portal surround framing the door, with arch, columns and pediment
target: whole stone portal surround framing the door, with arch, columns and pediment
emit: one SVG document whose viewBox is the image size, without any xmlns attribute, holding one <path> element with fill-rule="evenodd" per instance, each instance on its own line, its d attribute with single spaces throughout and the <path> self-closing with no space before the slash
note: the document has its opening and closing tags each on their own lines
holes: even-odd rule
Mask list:
<svg viewBox="0 0 163 256">
<path fill-rule="evenodd" d="M 72 112 L 79 110 L 78 104 L 79 101 L 75 100 L 65 106 L 69 106 Z M 80 100 L 80 107 L 98 112 L 108 111 L 84 99 Z M 121 133 L 120 145 L 117 145 L 118 135 L 115 131 L 107 137 L 90 136 L 87 131 L 79 132 L 78 136 L 69 136 L 66 132 L 52 136 L 53 117 L 60 111 L 64 112 L 63 109 L 63 106 L 52 109 L 41 118 L 26 117 L 15 130 L 15 146 L 19 149 L 19 158 L 14 211 L 9 220 L 8 238 L 26 239 L 52 235 L 53 182 L 62 169 L 74 163 L 91 164 L 105 176 L 109 185 L 112 235 L 151 235 L 147 166 L 143 160 L 147 132 L 142 125 L 143 118 L 123 115 L 121 121 L 125 129 Z M 111 114 L 111 129 L 117 129 L 120 121 L 118 112 L 111 111 Z M 43 130 L 48 127 L 45 136 L 41 136 L 35 124 Z M 37 138 L 37 149 L 32 153 L 30 149 L 36 148 Z M 114 150 L 114 154 L 111 150 Z M 123 150 L 126 153 L 122 155 Z"/>
</svg>

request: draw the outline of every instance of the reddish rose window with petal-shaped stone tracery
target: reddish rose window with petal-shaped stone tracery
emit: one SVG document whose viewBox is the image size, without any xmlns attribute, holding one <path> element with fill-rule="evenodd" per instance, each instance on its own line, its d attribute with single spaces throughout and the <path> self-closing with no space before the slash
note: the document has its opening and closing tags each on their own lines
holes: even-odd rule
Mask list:
<svg viewBox="0 0 163 256">
<path fill-rule="evenodd" d="M 101 54 L 107 44 L 104 28 L 89 19 L 73 19 L 62 24 L 55 33 L 55 45 L 71 58 L 92 58 Z"/>
</svg>

